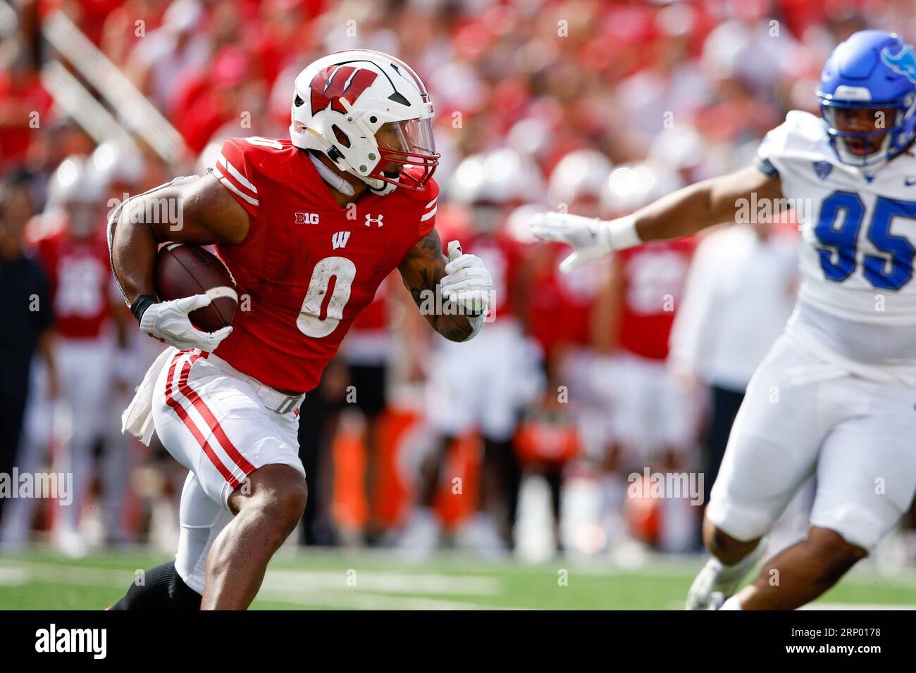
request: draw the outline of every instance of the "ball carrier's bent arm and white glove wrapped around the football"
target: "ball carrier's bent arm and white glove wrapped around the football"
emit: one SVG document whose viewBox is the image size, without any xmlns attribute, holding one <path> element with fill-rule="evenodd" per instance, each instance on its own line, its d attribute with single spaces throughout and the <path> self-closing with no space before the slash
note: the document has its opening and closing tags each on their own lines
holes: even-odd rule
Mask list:
<svg viewBox="0 0 916 673">
<path fill-rule="evenodd" d="M 209 304 L 206 295 L 157 304 L 153 284 L 156 252 L 158 244 L 167 241 L 241 243 L 249 227 L 245 209 L 213 175 L 206 175 L 173 180 L 125 201 L 108 226 L 114 277 L 140 329 L 179 348 L 213 350 L 232 328 L 207 334 L 191 326 L 187 314 Z"/>
</svg>

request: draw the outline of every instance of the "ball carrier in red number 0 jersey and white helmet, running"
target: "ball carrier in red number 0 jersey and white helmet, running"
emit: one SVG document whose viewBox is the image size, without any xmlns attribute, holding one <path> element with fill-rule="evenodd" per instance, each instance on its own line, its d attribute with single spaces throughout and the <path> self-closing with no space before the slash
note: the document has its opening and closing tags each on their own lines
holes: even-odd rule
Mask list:
<svg viewBox="0 0 916 673">
<path fill-rule="evenodd" d="M 243 609 L 255 598 L 305 508 L 296 409 L 389 272 L 447 339 L 481 329 L 490 275 L 456 242 L 447 260 L 434 227 L 432 116 L 406 63 L 338 52 L 296 78 L 290 140 L 231 138 L 212 173 L 114 213 L 114 275 L 140 329 L 174 347 L 147 372 L 125 429 L 148 440 L 155 426 L 191 470 L 175 563 L 147 571 L 115 608 Z M 170 203 L 180 222 L 150 216 Z M 191 326 L 207 295 L 157 302 L 165 241 L 216 246 L 242 299 L 231 327 Z"/>
</svg>

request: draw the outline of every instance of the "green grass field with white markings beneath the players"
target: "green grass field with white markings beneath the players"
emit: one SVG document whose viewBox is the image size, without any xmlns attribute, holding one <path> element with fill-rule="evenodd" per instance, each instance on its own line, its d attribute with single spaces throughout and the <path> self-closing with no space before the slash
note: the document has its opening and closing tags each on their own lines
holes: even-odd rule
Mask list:
<svg viewBox="0 0 916 673">
<path fill-rule="evenodd" d="M 101 610 L 135 572 L 169 559 L 144 550 L 74 561 L 47 549 L 0 555 L 0 609 Z M 701 559 L 657 559 L 638 570 L 606 561 L 540 565 L 442 555 L 411 563 L 390 553 L 283 550 L 255 609 L 680 609 Z M 562 570 L 566 584 L 562 585 Z M 854 570 L 815 607 L 916 607 L 916 570 Z"/>
</svg>

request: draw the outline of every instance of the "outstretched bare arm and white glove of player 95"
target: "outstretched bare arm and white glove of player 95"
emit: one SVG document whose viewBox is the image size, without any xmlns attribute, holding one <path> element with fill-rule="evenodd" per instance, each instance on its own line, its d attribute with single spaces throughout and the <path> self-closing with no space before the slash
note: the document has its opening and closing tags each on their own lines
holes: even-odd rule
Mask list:
<svg viewBox="0 0 916 673">
<path fill-rule="evenodd" d="M 615 250 L 689 236 L 714 224 L 734 222 L 736 214 L 747 209 L 753 195 L 758 202 L 772 200 L 774 208 L 778 207 L 782 199 L 779 174 L 750 166 L 673 191 L 616 220 L 546 212 L 532 218 L 531 229 L 539 238 L 573 246 L 573 254 L 560 265 L 563 273 L 569 273 Z"/>
</svg>

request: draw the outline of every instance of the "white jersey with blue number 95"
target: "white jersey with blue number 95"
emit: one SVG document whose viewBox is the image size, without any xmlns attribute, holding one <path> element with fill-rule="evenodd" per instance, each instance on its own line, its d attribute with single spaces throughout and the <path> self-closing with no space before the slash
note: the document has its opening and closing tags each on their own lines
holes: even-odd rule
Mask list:
<svg viewBox="0 0 916 673">
<path fill-rule="evenodd" d="M 845 320 L 916 325 L 916 157 L 868 175 L 835 157 L 819 117 L 793 111 L 764 139 L 758 167 L 779 172 L 802 227 L 800 301 Z"/>
</svg>

